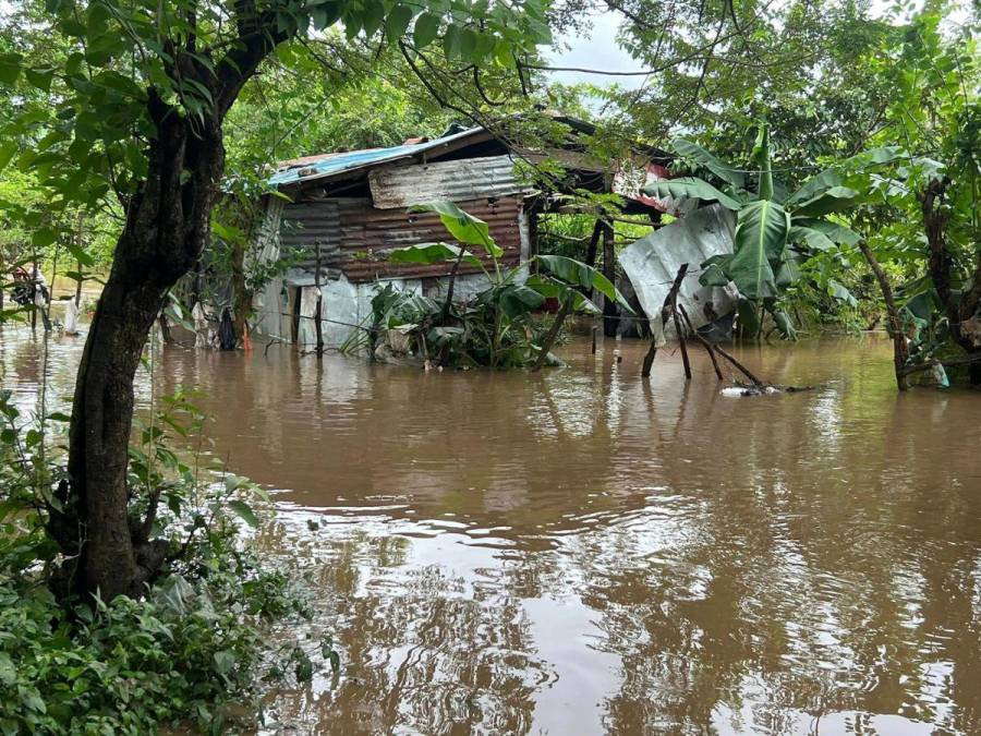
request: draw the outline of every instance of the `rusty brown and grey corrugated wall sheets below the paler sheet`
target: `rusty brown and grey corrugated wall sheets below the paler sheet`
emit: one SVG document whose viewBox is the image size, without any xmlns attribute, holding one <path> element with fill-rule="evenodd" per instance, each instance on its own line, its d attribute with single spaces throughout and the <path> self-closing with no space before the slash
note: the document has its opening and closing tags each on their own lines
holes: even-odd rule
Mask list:
<svg viewBox="0 0 981 736">
<path fill-rule="evenodd" d="M 521 236 L 517 197 L 495 202 L 486 198 L 462 201 L 460 207 L 485 220 L 491 236 L 504 249 L 500 263 L 516 266 L 520 261 Z M 388 262 L 392 249 L 416 243 L 445 241 L 449 234 L 434 213 L 409 214 L 404 209 L 376 209 L 368 198 L 334 198 L 289 204 L 283 208 L 280 238 L 283 253 L 299 250 L 298 264 L 313 268 L 316 244 L 320 244 L 322 265 L 339 268 L 350 281 L 377 278 L 423 278 L 448 274 L 451 264 L 393 266 Z M 479 254 L 480 249 L 471 249 Z M 492 267 L 484 256 L 486 267 Z M 480 273 L 475 266 L 461 265 L 460 274 Z"/>
</svg>

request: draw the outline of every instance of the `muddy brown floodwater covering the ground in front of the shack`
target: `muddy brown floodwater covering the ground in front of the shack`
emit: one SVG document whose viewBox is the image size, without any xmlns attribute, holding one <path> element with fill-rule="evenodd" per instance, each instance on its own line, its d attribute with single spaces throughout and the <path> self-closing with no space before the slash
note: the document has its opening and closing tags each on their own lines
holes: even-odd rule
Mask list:
<svg viewBox="0 0 981 736">
<path fill-rule="evenodd" d="M 873 338 L 737 350 L 820 385 L 755 398 L 698 352 L 646 384 L 643 348 L 538 375 L 158 354 L 276 490 L 256 542 L 338 641 L 268 733 L 981 734 L 981 395 L 897 395 Z M 0 351 L 29 403 L 38 343 Z M 51 396 L 80 352 L 52 342 Z"/>
</svg>

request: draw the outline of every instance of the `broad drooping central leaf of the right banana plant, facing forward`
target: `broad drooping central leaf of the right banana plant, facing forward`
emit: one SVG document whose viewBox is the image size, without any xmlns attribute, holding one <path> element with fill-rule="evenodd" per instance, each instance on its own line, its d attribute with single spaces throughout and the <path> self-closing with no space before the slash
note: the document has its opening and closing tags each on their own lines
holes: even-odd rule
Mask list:
<svg viewBox="0 0 981 736">
<path fill-rule="evenodd" d="M 790 217 L 775 202 L 760 200 L 739 210 L 734 255 L 726 270 L 743 297 L 777 295 L 774 267 L 783 260 L 789 232 Z"/>
</svg>

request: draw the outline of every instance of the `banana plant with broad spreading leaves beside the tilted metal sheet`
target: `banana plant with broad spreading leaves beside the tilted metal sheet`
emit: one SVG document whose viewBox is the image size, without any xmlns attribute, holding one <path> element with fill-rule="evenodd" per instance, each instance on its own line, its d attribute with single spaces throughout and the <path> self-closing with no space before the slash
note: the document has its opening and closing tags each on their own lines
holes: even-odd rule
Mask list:
<svg viewBox="0 0 981 736">
<path fill-rule="evenodd" d="M 677 138 L 671 145 L 682 159 L 711 172 L 725 191 L 697 177 L 681 177 L 653 182 L 644 186 L 644 193 L 715 202 L 736 214 L 732 253 L 715 255 L 703 263 L 699 281 L 703 286 L 736 286 L 740 295 L 738 316 L 746 331 L 759 335 L 762 316 L 770 313 L 780 335 L 795 339 L 794 326 L 778 307 L 778 299 L 800 279 L 802 261 L 819 251 L 858 242 L 856 232 L 825 216 L 846 212 L 863 202 L 864 193 L 847 185 L 850 182 L 844 173 L 861 161 L 849 159 L 846 164 L 851 167 L 822 171 L 788 195 L 786 188 L 773 177 L 765 123 L 758 129 L 752 153 L 752 161 L 759 166 L 755 191 L 751 190 L 744 171 L 697 143 Z M 896 155 L 889 148 L 861 154 L 870 162 L 882 162 Z"/>
</svg>

